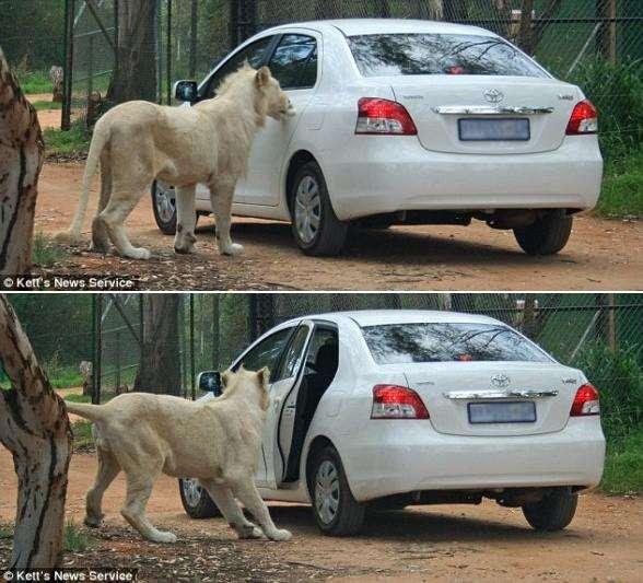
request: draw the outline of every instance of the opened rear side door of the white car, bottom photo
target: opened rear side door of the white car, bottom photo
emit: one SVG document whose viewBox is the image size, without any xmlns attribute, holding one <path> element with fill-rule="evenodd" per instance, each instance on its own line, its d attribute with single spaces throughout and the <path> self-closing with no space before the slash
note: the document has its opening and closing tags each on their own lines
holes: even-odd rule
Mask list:
<svg viewBox="0 0 643 583">
<path fill-rule="evenodd" d="M 292 336 L 289 347 L 278 371 L 278 378 L 270 385 L 270 407 L 266 416 L 266 425 L 261 440 L 266 463 L 266 479 L 260 483 L 268 488 L 277 488 L 281 481 L 283 464 L 280 462 L 278 442 L 280 423 L 285 416 L 294 416 L 294 408 L 284 407 L 287 399 L 296 386 L 304 365 L 304 358 L 313 333 L 313 323 L 304 320 Z"/>
</svg>

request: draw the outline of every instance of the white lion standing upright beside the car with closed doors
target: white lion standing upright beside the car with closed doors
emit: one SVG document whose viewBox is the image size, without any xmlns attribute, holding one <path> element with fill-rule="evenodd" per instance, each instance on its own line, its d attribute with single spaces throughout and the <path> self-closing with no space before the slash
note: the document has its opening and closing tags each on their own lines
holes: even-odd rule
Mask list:
<svg viewBox="0 0 643 583">
<path fill-rule="evenodd" d="M 267 67 L 244 65 L 225 78 L 217 97 L 194 107 L 168 107 L 133 101 L 107 112 L 96 124 L 73 222 L 59 240 L 78 242 L 90 183 L 101 163 L 101 199 L 92 223 L 92 247 L 149 259 L 145 248 L 129 242 L 124 222 L 154 179 L 176 190 L 177 225 L 174 248 L 191 253 L 195 237 L 195 187 L 203 183 L 217 220 L 219 252 L 242 253 L 230 237 L 234 188 L 246 173 L 253 138 L 267 116 L 280 120 L 294 114 L 288 95 Z"/>
</svg>

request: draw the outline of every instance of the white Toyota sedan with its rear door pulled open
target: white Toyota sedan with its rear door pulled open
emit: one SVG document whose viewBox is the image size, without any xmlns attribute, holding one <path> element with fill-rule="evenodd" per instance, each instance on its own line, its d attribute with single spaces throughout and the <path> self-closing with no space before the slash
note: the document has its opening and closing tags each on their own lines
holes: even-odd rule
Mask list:
<svg viewBox="0 0 643 583">
<path fill-rule="evenodd" d="M 276 326 L 232 364 L 269 366 L 256 483 L 311 503 L 319 528 L 356 533 L 371 508 L 522 506 L 537 529 L 572 520 L 600 481 L 598 393 L 495 319 L 425 311 L 323 314 Z M 201 373 L 211 386 L 219 373 Z M 214 383 L 214 385 L 209 385 Z M 194 517 L 215 506 L 180 480 Z"/>
</svg>

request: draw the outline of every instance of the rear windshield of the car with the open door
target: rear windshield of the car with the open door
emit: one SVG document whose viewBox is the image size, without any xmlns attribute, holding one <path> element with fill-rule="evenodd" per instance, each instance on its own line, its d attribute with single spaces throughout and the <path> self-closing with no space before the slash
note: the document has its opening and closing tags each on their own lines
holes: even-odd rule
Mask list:
<svg viewBox="0 0 643 583">
<path fill-rule="evenodd" d="M 390 324 L 362 334 L 378 364 L 406 362 L 550 362 L 537 346 L 503 325 Z"/>
</svg>

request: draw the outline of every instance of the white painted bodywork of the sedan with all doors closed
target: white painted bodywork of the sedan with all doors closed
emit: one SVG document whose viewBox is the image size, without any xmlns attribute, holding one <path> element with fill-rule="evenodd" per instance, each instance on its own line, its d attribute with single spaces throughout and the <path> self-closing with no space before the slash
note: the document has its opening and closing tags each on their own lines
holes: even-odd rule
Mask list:
<svg viewBox="0 0 643 583">
<path fill-rule="evenodd" d="M 290 221 L 287 176 L 302 151 L 322 167 L 340 220 L 409 210 L 489 214 L 500 208 L 575 211 L 595 206 L 603 172 L 597 137 L 565 136 L 570 113 L 584 98 L 578 88 L 548 73 L 362 77 L 346 36 L 405 32 L 495 37 L 482 28 L 448 23 L 339 20 L 276 26 L 239 46 L 243 50 L 277 34 L 307 34 L 318 44 L 318 72 L 313 89 L 288 92 L 296 116 L 284 123 L 269 119 L 257 136 L 247 178 L 237 185 L 234 214 Z M 487 88 L 501 88 L 506 105 L 554 110 L 529 116 L 527 142 L 461 142 L 454 129 L 457 116 L 439 115 L 433 108 L 484 104 Z M 418 136 L 355 135 L 358 101 L 364 96 L 404 104 Z M 197 210 L 210 212 L 207 187 L 199 185 L 197 198 Z"/>
</svg>

